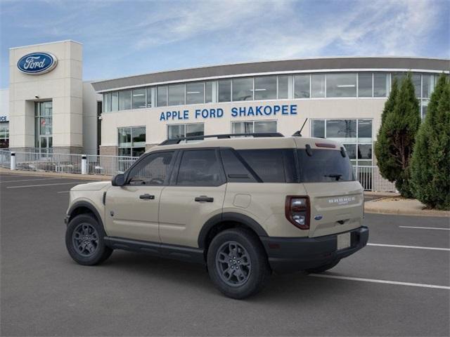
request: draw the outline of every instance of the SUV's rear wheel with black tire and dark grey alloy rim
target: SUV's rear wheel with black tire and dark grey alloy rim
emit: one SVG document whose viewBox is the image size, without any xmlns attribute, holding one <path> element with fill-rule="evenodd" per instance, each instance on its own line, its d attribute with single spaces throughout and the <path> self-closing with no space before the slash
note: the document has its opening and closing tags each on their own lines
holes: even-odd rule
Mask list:
<svg viewBox="0 0 450 337">
<path fill-rule="evenodd" d="M 212 282 L 225 296 L 242 299 L 260 291 L 270 274 L 261 242 L 252 232 L 233 228 L 217 234 L 207 251 Z"/>
</svg>

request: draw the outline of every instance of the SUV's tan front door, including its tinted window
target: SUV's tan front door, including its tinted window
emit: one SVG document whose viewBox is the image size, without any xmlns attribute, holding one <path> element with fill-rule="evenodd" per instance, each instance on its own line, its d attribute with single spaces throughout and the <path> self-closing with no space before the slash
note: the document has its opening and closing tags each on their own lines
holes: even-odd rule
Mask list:
<svg viewBox="0 0 450 337">
<path fill-rule="evenodd" d="M 126 174 L 125 185 L 110 187 L 105 197 L 109 236 L 160 242 L 158 208 L 174 154 L 174 151 L 146 154 Z"/>
</svg>

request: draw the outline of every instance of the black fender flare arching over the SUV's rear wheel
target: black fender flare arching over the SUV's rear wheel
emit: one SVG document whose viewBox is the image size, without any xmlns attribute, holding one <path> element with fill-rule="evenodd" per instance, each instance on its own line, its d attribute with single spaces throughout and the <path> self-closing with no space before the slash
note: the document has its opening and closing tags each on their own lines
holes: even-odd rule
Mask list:
<svg viewBox="0 0 450 337">
<path fill-rule="evenodd" d="M 233 221 L 235 223 L 242 223 L 243 225 L 250 227 L 259 237 L 267 237 L 269 236 L 264 228 L 259 225 L 255 220 L 250 218 L 250 216 L 245 216 L 242 213 L 234 213 L 234 212 L 226 212 L 220 213 L 209 220 L 203 225 L 202 230 L 200 230 L 200 234 L 198 234 L 198 247 L 205 248 L 207 234 L 210 232 L 212 227 L 217 225 L 218 223 L 222 223 L 224 221 Z"/>
</svg>

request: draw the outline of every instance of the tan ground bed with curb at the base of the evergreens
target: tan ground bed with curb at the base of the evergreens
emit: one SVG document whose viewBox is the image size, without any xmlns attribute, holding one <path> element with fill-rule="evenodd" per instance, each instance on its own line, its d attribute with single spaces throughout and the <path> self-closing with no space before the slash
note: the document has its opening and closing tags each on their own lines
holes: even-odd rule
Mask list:
<svg viewBox="0 0 450 337">
<path fill-rule="evenodd" d="M 380 193 L 380 199 L 366 201 L 364 211 L 366 213 L 397 214 L 403 216 L 444 216 L 450 218 L 450 211 L 425 209 L 425 205 L 420 201 L 416 199 L 404 199 L 395 193 Z"/>
</svg>

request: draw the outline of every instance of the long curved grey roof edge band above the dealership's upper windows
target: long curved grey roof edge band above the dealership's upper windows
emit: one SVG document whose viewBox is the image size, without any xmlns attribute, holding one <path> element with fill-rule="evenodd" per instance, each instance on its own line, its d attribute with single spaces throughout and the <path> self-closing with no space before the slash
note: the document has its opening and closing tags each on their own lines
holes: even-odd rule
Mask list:
<svg viewBox="0 0 450 337">
<path fill-rule="evenodd" d="M 411 56 L 339 56 L 302 58 L 291 60 L 266 60 L 257 62 L 240 62 L 228 65 L 207 65 L 180 70 L 138 74 L 115 79 L 93 82 L 96 91 L 110 91 L 117 88 L 129 88 L 162 83 L 175 83 L 193 80 L 236 77 L 240 74 L 255 76 L 257 74 L 283 74 L 289 72 L 317 72 L 321 70 L 421 70 L 447 72 L 450 59 L 416 58 Z"/>
</svg>

